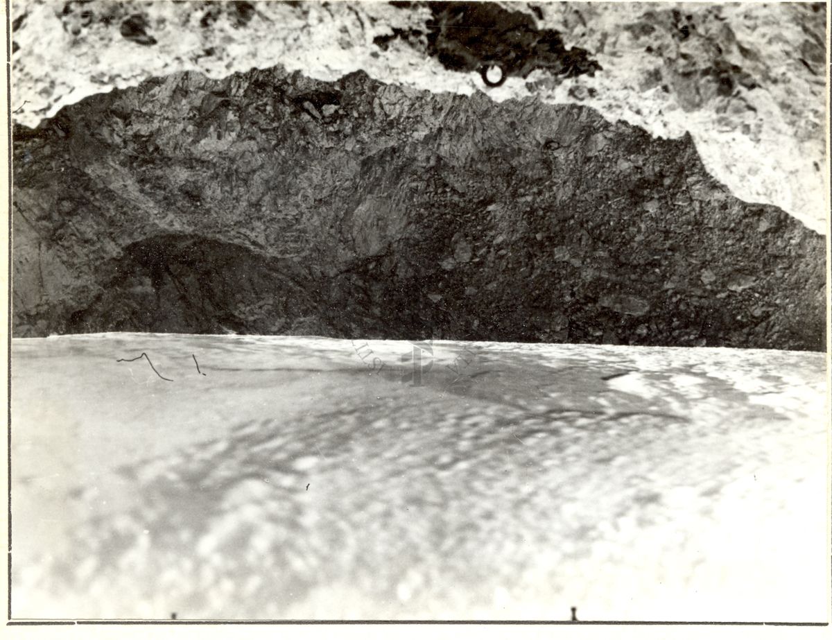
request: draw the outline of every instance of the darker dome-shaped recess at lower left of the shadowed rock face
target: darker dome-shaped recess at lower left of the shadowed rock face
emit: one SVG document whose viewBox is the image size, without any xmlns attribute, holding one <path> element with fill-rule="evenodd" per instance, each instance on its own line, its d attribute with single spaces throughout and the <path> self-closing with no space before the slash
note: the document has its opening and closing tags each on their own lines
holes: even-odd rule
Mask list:
<svg viewBox="0 0 832 640">
<path fill-rule="evenodd" d="M 116 331 L 165 331 L 175 325 L 191 326 L 193 333 L 271 334 L 291 332 L 297 320 L 317 311 L 315 291 L 305 290 L 304 273 L 294 262 L 197 235 L 134 242 L 113 272 L 92 312 L 70 316 L 68 332 L 82 333 L 104 314 Z M 125 298 L 123 291 L 130 295 Z M 240 310 L 254 299 L 261 304 L 252 324 Z"/>
</svg>

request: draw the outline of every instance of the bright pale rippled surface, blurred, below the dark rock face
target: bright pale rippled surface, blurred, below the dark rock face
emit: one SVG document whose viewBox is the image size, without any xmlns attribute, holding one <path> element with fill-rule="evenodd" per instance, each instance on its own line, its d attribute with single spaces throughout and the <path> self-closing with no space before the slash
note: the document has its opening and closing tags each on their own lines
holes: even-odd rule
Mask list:
<svg viewBox="0 0 832 640">
<path fill-rule="evenodd" d="M 14 617 L 825 619 L 823 355 L 363 345 L 14 340 Z"/>
</svg>

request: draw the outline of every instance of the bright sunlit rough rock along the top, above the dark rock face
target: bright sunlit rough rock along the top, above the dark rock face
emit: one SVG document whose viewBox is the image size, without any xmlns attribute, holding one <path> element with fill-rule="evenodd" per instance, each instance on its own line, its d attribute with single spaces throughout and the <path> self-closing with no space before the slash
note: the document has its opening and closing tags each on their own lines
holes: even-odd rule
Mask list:
<svg viewBox="0 0 832 640">
<path fill-rule="evenodd" d="M 485 88 L 473 67 L 448 70 L 429 57 L 453 49 L 447 37 L 438 47 L 430 42 L 434 5 L 398 5 L 17 2 L 12 108 L 17 122 L 33 127 L 82 97 L 147 77 L 191 69 L 220 78 L 277 63 L 330 81 L 363 69 L 433 92 Z M 708 170 L 735 196 L 780 206 L 826 233 L 823 3 L 493 6 L 507 11 L 502 23 L 508 12 L 515 22 L 532 21 L 527 36 L 533 27 L 557 31 L 565 49 L 587 52 L 602 70 L 566 77 L 557 64 L 543 64 L 523 78 L 523 68 L 489 88 L 489 97 L 586 103 L 656 136 L 689 132 Z M 518 50 L 517 42 L 503 44 Z M 492 53 L 499 50 L 496 43 Z"/>
</svg>

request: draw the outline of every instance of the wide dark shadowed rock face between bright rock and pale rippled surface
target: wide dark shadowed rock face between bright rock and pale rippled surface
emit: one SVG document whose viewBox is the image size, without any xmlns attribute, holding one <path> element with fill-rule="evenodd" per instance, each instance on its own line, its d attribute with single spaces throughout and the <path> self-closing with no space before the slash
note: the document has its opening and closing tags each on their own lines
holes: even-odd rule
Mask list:
<svg viewBox="0 0 832 640">
<path fill-rule="evenodd" d="M 277 67 L 15 134 L 17 336 L 824 348 L 822 237 L 587 107 Z"/>
</svg>

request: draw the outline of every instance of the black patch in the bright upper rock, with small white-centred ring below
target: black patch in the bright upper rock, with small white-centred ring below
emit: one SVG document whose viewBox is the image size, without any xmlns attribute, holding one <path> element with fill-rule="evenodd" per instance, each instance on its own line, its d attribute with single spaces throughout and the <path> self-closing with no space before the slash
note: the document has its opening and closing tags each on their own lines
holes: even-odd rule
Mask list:
<svg viewBox="0 0 832 640">
<path fill-rule="evenodd" d="M 501 85 L 511 76 L 527 77 L 535 69 L 575 77 L 592 76 L 602 68 L 586 49 L 567 49 L 559 32 L 538 29 L 527 13 L 508 11 L 493 2 L 427 2 L 427 6 L 432 18 L 425 25 L 423 47 L 419 47 L 419 30 L 396 29 L 392 35 L 376 37 L 374 43 L 386 49 L 392 39 L 405 40 L 447 69 L 480 72 L 489 86 Z M 498 82 L 486 77 L 492 66 L 503 72 Z"/>
</svg>

